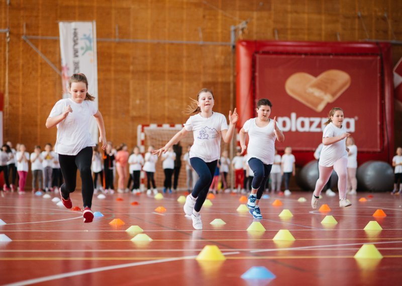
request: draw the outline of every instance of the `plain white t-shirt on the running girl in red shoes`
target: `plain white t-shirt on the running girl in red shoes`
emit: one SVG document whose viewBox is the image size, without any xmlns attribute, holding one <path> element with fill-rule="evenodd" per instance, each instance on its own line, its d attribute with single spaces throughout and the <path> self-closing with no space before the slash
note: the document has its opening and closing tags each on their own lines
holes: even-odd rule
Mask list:
<svg viewBox="0 0 402 286">
<path fill-rule="evenodd" d="M 64 107 L 70 105 L 72 112 L 57 124 L 57 139 L 54 151 L 62 155 L 77 155 L 85 147 L 93 147 L 89 133 L 89 119 L 97 112 L 96 106 L 89 100 L 78 104 L 71 98 L 61 99 L 53 106 L 49 117 L 60 115 Z"/>
</svg>

